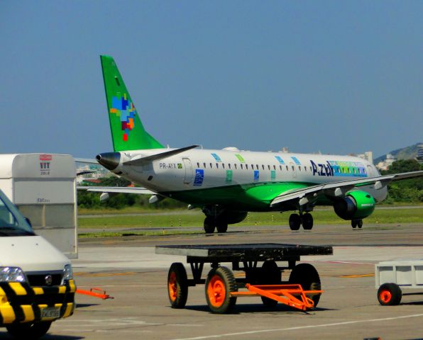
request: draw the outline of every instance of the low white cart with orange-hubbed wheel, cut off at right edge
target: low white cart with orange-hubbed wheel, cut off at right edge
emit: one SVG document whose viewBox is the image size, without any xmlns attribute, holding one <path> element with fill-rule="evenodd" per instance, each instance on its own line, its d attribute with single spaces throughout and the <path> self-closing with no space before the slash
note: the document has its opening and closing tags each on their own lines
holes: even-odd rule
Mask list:
<svg viewBox="0 0 423 340">
<path fill-rule="evenodd" d="M 385 261 L 375 264 L 375 283 L 380 305 L 398 305 L 402 290 L 423 290 L 423 259 Z"/>
</svg>

